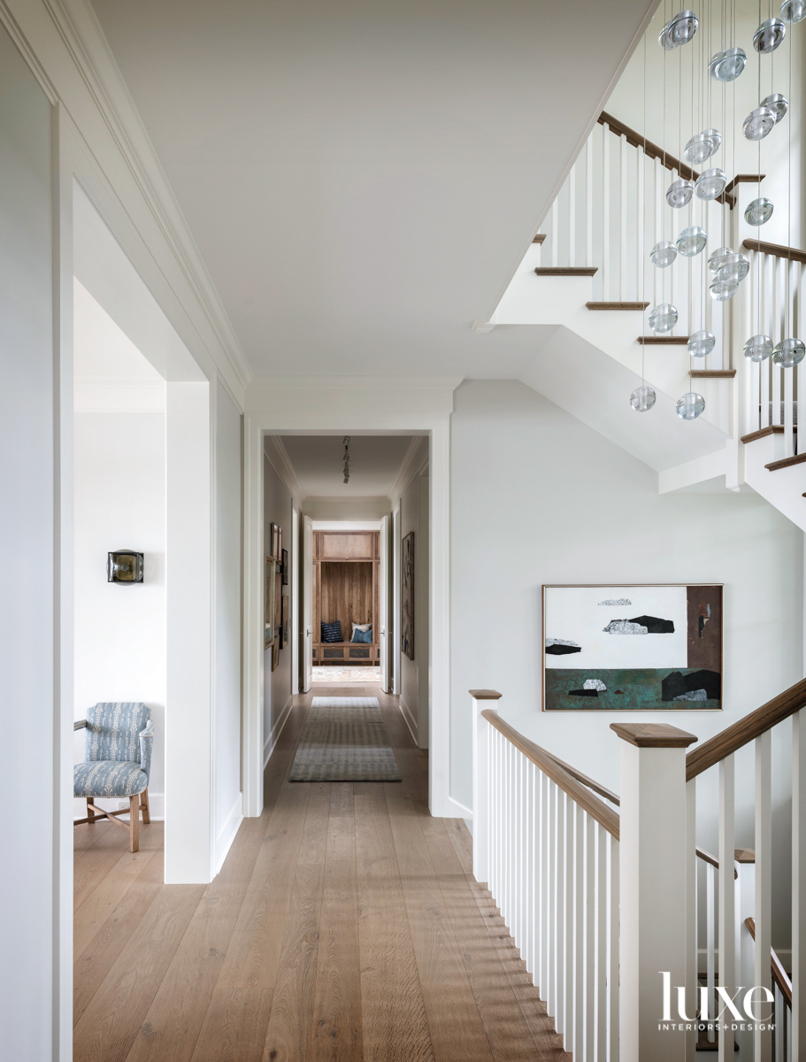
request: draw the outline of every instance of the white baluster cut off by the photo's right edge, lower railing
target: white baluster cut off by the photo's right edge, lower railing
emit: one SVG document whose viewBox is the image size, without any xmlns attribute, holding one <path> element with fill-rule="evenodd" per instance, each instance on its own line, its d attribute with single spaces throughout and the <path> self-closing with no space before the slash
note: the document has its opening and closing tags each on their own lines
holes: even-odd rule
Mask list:
<svg viewBox="0 0 806 1062">
<path fill-rule="evenodd" d="M 792 716 L 792 1062 L 806 1062 L 806 708 Z"/>
</svg>

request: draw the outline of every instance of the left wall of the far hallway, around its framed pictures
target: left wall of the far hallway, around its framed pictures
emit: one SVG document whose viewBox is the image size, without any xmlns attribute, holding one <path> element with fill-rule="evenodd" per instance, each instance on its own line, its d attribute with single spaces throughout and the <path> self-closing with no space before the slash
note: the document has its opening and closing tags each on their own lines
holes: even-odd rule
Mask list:
<svg viewBox="0 0 806 1062">
<path fill-rule="evenodd" d="M 265 543 L 270 548 L 269 526 L 274 523 L 282 528 L 282 548 L 288 550 L 289 564 L 296 563 L 296 543 L 291 541 L 291 495 L 286 490 L 281 479 L 274 470 L 271 461 L 263 457 L 263 513 L 265 523 Z M 291 578 L 282 593 L 291 597 Z M 275 624 L 279 627 L 279 617 Z M 291 618 L 291 637 L 296 636 L 296 621 Z M 272 671 L 272 650 L 263 652 L 263 763 L 272 754 L 279 732 L 288 718 L 291 707 L 291 697 L 296 692 L 298 679 L 292 674 L 291 646 L 280 649 L 277 670 Z"/>
</svg>

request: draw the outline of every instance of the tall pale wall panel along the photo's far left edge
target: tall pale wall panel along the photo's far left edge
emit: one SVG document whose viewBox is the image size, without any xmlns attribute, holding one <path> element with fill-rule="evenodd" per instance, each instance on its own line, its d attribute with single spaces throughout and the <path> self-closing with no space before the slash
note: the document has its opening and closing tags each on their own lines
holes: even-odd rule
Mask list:
<svg viewBox="0 0 806 1062">
<path fill-rule="evenodd" d="M 54 974 L 65 973 L 59 948 L 70 928 L 59 906 L 61 860 L 69 855 L 59 796 L 70 780 L 62 776 L 58 736 L 63 584 L 54 561 L 62 517 L 68 533 L 70 520 L 69 498 L 62 513 L 54 486 L 57 370 L 69 374 L 70 364 L 69 348 L 54 345 L 51 107 L 1 28 L 0 187 L 0 681 L 4 792 L 14 798 L 3 845 L 0 1028 L 5 1056 L 45 1062 L 56 1057 L 68 1016 L 59 1012 L 66 993 Z M 66 958 L 69 970 L 69 950 Z"/>
</svg>

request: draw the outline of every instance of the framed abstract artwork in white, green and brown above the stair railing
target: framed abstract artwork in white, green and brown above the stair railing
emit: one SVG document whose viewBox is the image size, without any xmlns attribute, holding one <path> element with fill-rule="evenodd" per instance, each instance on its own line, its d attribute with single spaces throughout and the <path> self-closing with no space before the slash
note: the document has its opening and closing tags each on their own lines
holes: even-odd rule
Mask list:
<svg viewBox="0 0 806 1062">
<path fill-rule="evenodd" d="M 543 587 L 545 712 L 722 707 L 722 585 Z"/>
</svg>

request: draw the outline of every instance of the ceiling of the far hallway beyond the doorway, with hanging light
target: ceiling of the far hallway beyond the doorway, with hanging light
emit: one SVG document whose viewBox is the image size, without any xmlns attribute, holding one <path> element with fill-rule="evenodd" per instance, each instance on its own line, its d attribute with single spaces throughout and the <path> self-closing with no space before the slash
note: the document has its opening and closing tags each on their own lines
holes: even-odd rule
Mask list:
<svg viewBox="0 0 806 1062">
<path fill-rule="evenodd" d="M 344 435 L 282 435 L 306 497 L 388 496 L 413 442 L 411 435 L 351 435 L 349 482 L 344 482 Z"/>
</svg>

